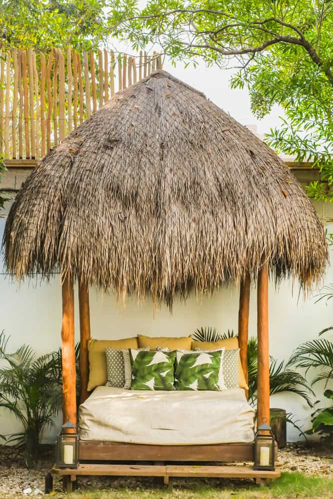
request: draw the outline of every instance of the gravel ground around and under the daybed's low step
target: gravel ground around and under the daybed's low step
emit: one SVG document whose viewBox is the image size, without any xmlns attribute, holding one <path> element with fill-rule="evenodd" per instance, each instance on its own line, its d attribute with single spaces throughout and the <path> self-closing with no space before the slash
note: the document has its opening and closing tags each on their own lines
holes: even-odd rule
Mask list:
<svg viewBox="0 0 333 499">
<path fill-rule="evenodd" d="M 45 446 L 39 469 L 27 470 L 24 468 L 22 457 L 15 448 L 0 446 L 0 497 L 23 497 L 23 490 L 28 487 L 31 487 L 32 490 L 37 488 L 44 491 L 44 478 L 52 465 L 53 449 L 50 447 Z M 277 465 L 281 467 L 282 471 L 295 471 L 307 475 L 333 478 L 333 448 L 325 449 L 320 445 L 305 448 L 301 445 L 289 444 L 286 449 L 279 451 Z M 175 485 L 188 486 L 189 482 L 187 479 L 180 479 Z M 155 483 L 157 483 L 156 480 L 150 478 L 82 477 L 78 487 L 81 491 L 109 487 L 112 489 L 127 488 L 135 491 L 143 487 L 152 487 Z M 160 480 L 158 483 L 160 484 Z M 53 487 L 54 490 L 61 493 L 61 479 L 54 477 Z M 58 497 L 59 495 L 57 495 Z"/>
</svg>

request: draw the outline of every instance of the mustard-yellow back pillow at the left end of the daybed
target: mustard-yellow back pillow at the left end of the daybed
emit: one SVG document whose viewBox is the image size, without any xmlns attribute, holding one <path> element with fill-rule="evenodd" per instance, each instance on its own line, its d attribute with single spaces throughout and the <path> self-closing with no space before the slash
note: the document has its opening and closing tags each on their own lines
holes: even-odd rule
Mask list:
<svg viewBox="0 0 333 499">
<path fill-rule="evenodd" d="M 138 348 L 137 338 L 124 338 L 122 340 L 95 340 L 88 341 L 89 355 L 89 381 L 88 391 L 96 386 L 105 385 L 107 382 L 107 369 L 105 348 Z"/>
</svg>

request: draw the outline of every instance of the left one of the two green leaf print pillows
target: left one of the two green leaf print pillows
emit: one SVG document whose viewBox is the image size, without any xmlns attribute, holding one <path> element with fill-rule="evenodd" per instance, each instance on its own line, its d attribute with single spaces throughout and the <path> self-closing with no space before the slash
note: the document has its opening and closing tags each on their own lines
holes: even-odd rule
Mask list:
<svg viewBox="0 0 333 499">
<path fill-rule="evenodd" d="M 148 352 L 131 349 L 131 390 L 175 390 L 176 350 Z"/>
</svg>

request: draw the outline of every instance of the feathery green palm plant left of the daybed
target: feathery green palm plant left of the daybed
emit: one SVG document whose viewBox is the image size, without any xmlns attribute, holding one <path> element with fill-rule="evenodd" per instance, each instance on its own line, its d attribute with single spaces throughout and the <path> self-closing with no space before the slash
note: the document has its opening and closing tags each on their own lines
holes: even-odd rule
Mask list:
<svg viewBox="0 0 333 499">
<path fill-rule="evenodd" d="M 36 358 L 28 345 L 8 353 L 7 341 L 2 331 L 0 359 L 6 365 L 0 368 L 0 407 L 9 411 L 23 430 L 2 435 L 2 439 L 21 447 L 26 466 L 32 468 L 37 463 L 41 433 L 53 425 L 62 406 L 59 356 L 50 353 Z"/>
</svg>

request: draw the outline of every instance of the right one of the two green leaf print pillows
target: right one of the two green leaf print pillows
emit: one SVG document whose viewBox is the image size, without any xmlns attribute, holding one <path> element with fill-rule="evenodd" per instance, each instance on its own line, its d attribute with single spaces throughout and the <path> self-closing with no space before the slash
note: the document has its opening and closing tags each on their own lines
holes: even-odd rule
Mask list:
<svg viewBox="0 0 333 499">
<path fill-rule="evenodd" d="M 220 391 L 219 371 L 223 350 L 182 353 L 177 351 L 176 390 Z"/>
</svg>

